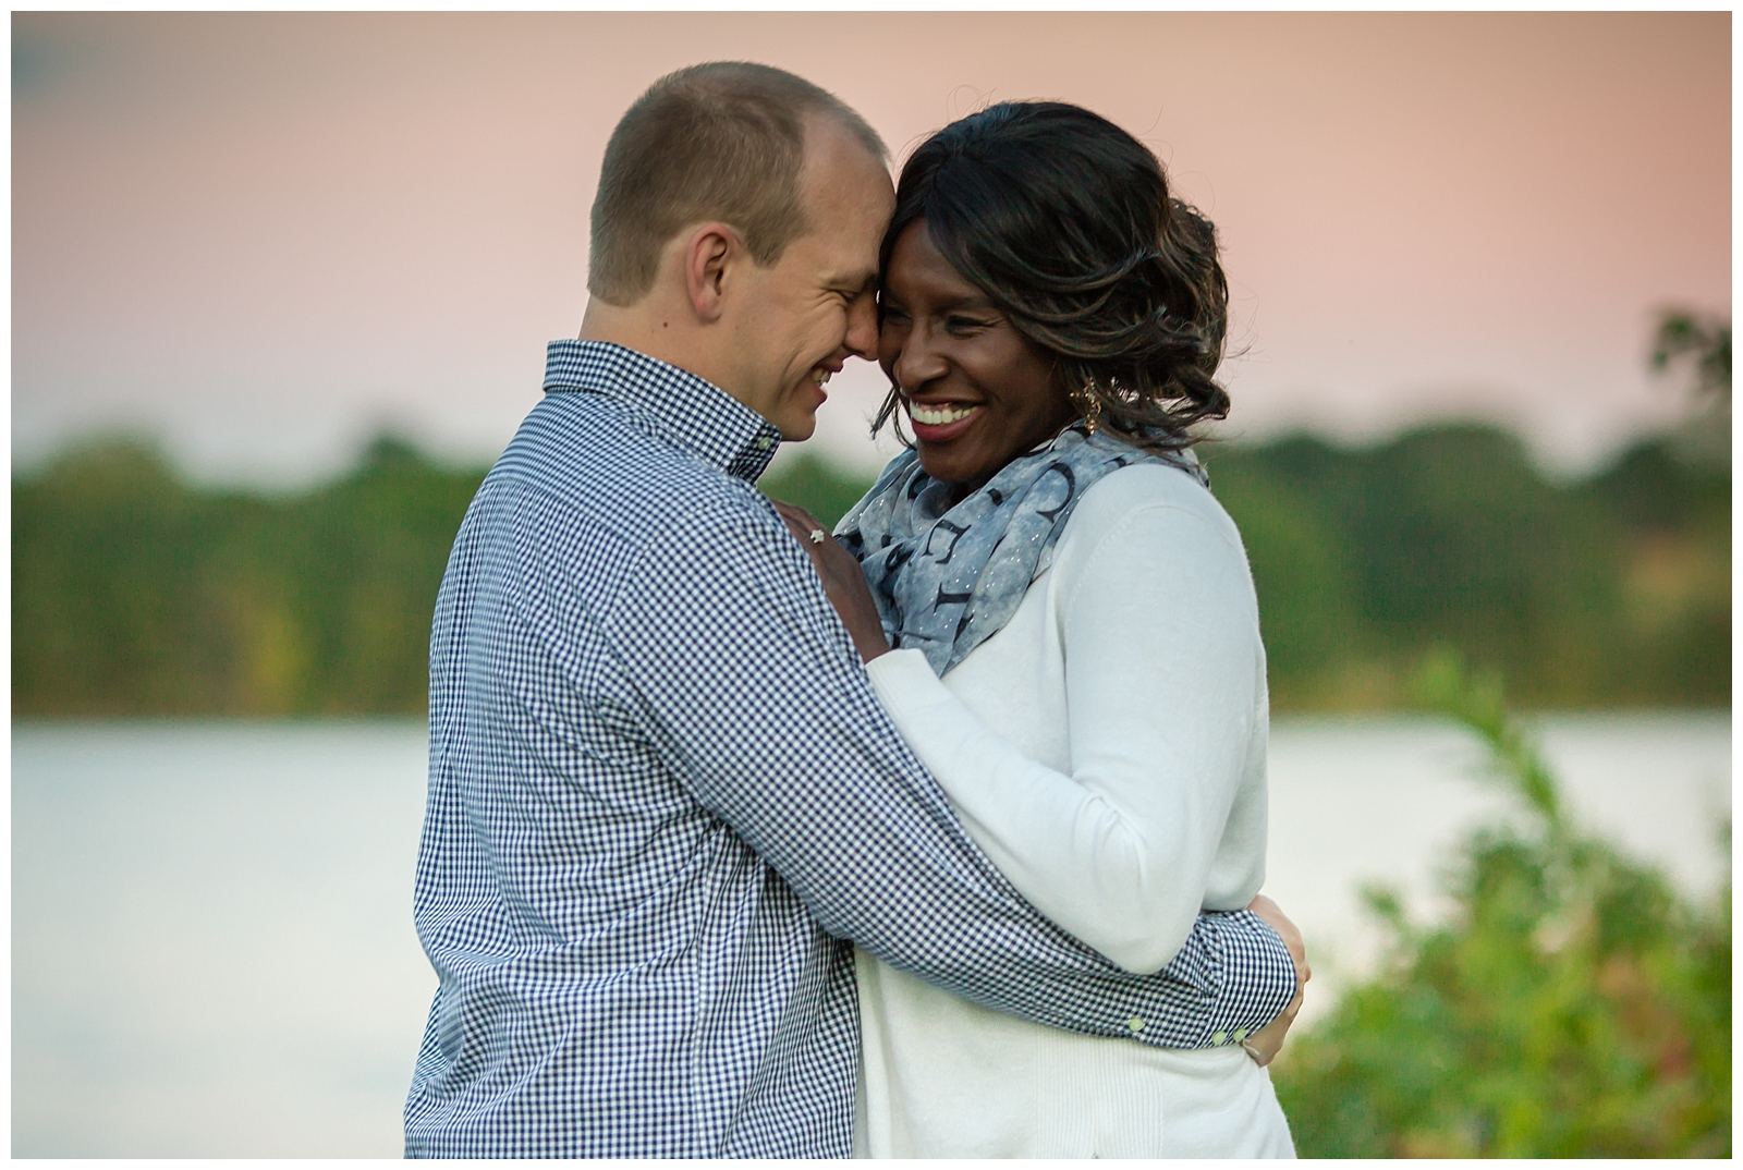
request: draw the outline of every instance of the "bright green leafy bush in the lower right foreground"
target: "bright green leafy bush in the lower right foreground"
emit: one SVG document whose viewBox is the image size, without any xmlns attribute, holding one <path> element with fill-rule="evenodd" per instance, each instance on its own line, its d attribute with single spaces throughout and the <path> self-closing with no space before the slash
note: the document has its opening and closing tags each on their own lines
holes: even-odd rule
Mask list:
<svg viewBox="0 0 1743 1170">
<path fill-rule="evenodd" d="M 1520 816 L 1452 858 L 1445 924 L 1367 891 L 1380 973 L 1272 1065 L 1299 1153 L 1729 1158 L 1729 879 L 1696 903 L 1581 832 L 1492 677 L 1440 652 L 1419 694 L 1489 745 Z"/>
</svg>

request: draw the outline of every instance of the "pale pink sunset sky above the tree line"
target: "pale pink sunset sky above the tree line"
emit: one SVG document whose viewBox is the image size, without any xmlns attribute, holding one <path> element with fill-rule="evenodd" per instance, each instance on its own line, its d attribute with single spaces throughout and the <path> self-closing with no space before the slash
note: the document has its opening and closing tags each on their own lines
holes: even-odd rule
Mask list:
<svg viewBox="0 0 1743 1170">
<path fill-rule="evenodd" d="M 898 162 L 1086 105 L 1220 227 L 1227 432 L 1518 429 L 1584 469 L 1665 425 L 1654 312 L 1731 312 L 1731 14 L 17 14 L 12 452 L 160 438 L 296 485 L 380 429 L 495 455 L 586 305 L 605 139 L 756 59 Z M 873 466 L 882 375 L 816 446 Z M 887 452 L 889 448 L 885 448 Z"/>
</svg>

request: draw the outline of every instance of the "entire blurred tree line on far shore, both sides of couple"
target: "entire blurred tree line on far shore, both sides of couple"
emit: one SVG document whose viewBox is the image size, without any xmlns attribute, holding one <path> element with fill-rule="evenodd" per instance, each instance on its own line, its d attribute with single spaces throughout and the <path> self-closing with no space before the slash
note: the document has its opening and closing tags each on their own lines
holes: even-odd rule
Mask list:
<svg viewBox="0 0 1743 1170">
<path fill-rule="evenodd" d="M 1654 438 L 1558 483 L 1480 425 L 1201 452 L 1246 541 L 1276 710 L 1408 706 L 1436 649 L 1527 706 L 1731 701 L 1727 460 Z M 14 480 L 14 713 L 422 711 L 483 476 L 383 438 L 296 497 L 190 486 L 141 443 Z M 762 486 L 833 521 L 870 478 L 802 455 Z"/>
</svg>

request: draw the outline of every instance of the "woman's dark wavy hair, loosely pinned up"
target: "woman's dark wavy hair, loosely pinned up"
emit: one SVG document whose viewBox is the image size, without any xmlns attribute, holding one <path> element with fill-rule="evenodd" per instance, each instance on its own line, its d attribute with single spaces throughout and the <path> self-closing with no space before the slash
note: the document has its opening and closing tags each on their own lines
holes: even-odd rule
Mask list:
<svg viewBox="0 0 1743 1170">
<path fill-rule="evenodd" d="M 1229 413 L 1211 377 L 1229 321 L 1217 228 L 1168 194 L 1143 143 L 1102 115 L 1000 101 L 952 122 L 901 167 L 885 272 L 915 221 L 1119 438 L 1180 452 L 1194 424 Z M 898 403 L 891 387 L 873 434 Z"/>
</svg>

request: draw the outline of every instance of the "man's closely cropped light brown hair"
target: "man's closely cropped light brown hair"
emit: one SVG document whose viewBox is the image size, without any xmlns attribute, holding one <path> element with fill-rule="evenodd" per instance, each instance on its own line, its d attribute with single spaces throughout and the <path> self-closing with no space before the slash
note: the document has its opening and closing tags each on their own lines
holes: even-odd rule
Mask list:
<svg viewBox="0 0 1743 1170">
<path fill-rule="evenodd" d="M 737 228 L 758 265 L 776 263 L 805 232 L 798 173 L 807 113 L 835 119 L 873 157 L 889 159 L 865 119 L 786 70 L 709 61 L 654 82 L 605 146 L 587 291 L 633 305 L 654 286 L 671 237 L 708 220 Z"/>
</svg>

